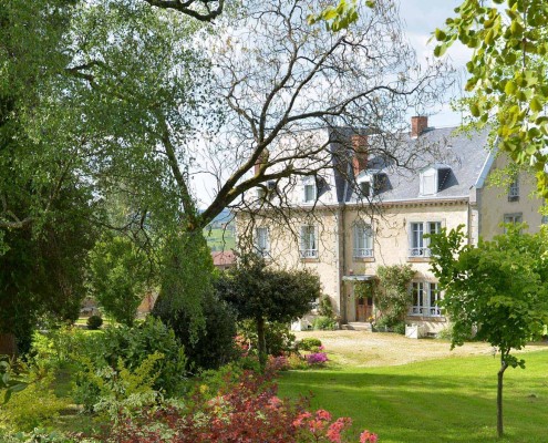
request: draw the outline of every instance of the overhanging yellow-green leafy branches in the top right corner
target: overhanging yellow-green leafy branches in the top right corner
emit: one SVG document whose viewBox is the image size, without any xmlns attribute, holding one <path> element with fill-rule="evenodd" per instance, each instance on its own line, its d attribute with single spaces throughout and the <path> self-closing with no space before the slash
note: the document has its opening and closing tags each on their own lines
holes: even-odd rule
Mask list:
<svg viewBox="0 0 548 443">
<path fill-rule="evenodd" d="M 548 3 L 546 0 L 466 0 L 436 29 L 443 55 L 455 41 L 474 50 L 466 100 L 473 121 L 490 125 L 498 146 L 518 164 L 537 171 L 538 189 L 548 198 Z"/>
</svg>

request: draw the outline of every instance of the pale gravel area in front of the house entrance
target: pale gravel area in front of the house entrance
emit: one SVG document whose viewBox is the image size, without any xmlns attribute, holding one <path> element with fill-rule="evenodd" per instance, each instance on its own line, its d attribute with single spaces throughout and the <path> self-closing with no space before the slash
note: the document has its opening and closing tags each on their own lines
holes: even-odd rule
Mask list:
<svg viewBox="0 0 548 443">
<path fill-rule="evenodd" d="M 487 343 L 474 342 L 451 350 L 448 341 L 407 339 L 396 333 L 365 331 L 306 331 L 293 332 L 297 339 L 319 338 L 330 358 L 340 364 L 354 367 L 384 367 L 415 361 L 462 356 L 492 356 Z M 548 350 L 548 343 L 531 343 L 523 352 Z"/>
</svg>

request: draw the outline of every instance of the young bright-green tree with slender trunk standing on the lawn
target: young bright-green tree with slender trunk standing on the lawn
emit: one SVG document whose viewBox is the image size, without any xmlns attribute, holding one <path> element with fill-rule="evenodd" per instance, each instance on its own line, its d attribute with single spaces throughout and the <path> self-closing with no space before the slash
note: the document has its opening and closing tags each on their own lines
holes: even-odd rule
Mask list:
<svg viewBox="0 0 548 443">
<path fill-rule="evenodd" d="M 523 226 L 477 247 L 466 244 L 463 226 L 432 236 L 432 269 L 445 290 L 443 306 L 453 322 L 452 348 L 473 328 L 500 353 L 497 433 L 503 435 L 503 377 L 525 368 L 511 352 L 542 333 L 548 323 L 548 231 L 520 234 Z"/>
</svg>

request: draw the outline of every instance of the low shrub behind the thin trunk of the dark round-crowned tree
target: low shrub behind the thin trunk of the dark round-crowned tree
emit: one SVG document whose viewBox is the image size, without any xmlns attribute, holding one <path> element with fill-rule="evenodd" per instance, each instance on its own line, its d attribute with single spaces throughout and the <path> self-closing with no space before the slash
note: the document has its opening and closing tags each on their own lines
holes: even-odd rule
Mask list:
<svg viewBox="0 0 548 443">
<path fill-rule="evenodd" d="M 238 336 L 245 342 L 250 343 L 251 351 L 258 350 L 257 327 L 252 320 L 238 322 Z M 288 324 L 277 321 L 265 322 L 265 341 L 268 356 L 283 356 L 294 348 L 294 334 L 289 330 Z"/>
</svg>

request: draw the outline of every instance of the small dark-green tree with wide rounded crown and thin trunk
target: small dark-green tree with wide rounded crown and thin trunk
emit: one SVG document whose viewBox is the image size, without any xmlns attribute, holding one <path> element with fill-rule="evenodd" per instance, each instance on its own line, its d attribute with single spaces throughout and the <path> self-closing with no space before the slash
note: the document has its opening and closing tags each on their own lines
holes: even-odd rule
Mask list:
<svg viewBox="0 0 548 443">
<path fill-rule="evenodd" d="M 272 269 L 255 254 L 241 256 L 238 266 L 223 274 L 217 291 L 234 306 L 239 319 L 255 321 L 262 368 L 267 359 L 265 322 L 289 323 L 310 311 L 321 297 L 320 280 L 310 270 Z"/>
</svg>

